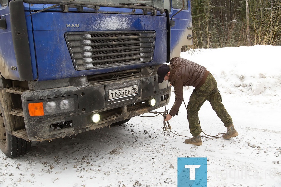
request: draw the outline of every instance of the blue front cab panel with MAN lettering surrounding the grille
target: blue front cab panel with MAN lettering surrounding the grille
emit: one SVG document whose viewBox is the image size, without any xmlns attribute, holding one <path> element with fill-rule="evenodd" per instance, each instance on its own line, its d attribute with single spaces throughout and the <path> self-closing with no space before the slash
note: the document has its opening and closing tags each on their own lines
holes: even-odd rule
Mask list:
<svg viewBox="0 0 281 187">
<path fill-rule="evenodd" d="M 122 71 L 125 69 L 163 64 L 167 60 L 167 57 L 162 55 L 167 51 L 167 45 L 163 45 L 167 43 L 167 26 L 166 18 L 164 16 L 41 12 L 31 15 L 31 17 L 33 26 L 29 29 L 33 29 L 38 81 Z M 116 62 L 115 66 L 94 67 L 88 70 L 80 68 L 80 70 L 77 68 L 77 65 L 75 64 L 76 62 L 71 58 L 75 51 L 69 51 L 68 44 L 70 41 L 66 41 L 65 34 L 68 32 L 91 32 L 94 34 L 93 31 L 112 31 L 111 33 L 113 35 L 116 31 L 122 31 L 123 33 L 132 31 L 138 31 L 140 33 L 141 31 L 153 31 L 156 33 L 153 47 L 153 59 L 148 62 L 142 62 L 141 60 L 136 59 L 138 54 L 133 54 L 132 58 L 135 58 L 135 61 L 132 61 L 132 63 L 123 64 L 123 61 L 119 60 L 119 62 Z M 108 40 L 110 40 L 110 38 Z M 122 41 L 125 39 L 120 40 Z M 115 45 L 115 48 L 117 48 L 118 41 L 119 40 L 117 40 L 117 42 L 113 40 L 108 41 L 107 45 L 112 45 L 112 48 L 114 48 Z M 128 41 L 130 43 L 130 40 Z M 102 46 L 104 44 L 94 43 L 96 40 L 91 39 L 85 39 L 83 42 L 84 43 L 80 42 L 80 45 L 83 45 L 84 48 L 82 55 L 84 55 L 84 57 L 88 56 L 88 58 L 81 59 L 81 61 L 88 60 L 89 62 L 85 62 L 85 64 L 92 66 L 93 63 L 90 61 L 94 58 L 96 53 L 91 51 L 91 49 L 94 49 L 97 45 L 99 45 L 99 48 L 97 49 L 100 49 L 104 47 Z M 139 43 L 141 43 L 141 41 Z M 141 48 L 142 46 L 139 47 Z M 105 55 L 109 56 L 111 54 Z M 108 61 L 114 61 L 116 58 L 120 59 L 124 57 L 122 56 L 122 53 L 120 53 L 112 56 L 112 59 L 108 58 Z"/>
</svg>

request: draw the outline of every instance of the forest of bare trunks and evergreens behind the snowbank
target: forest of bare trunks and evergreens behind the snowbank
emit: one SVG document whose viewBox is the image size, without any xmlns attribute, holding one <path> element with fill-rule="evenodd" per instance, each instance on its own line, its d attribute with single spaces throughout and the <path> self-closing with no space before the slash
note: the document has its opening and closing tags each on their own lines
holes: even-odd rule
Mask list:
<svg viewBox="0 0 281 187">
<path fill-rule="evenodd" d="M 191 0 L 191 9 L 189 48 L 281 45 L 281 0 Z"/>
</svg>

